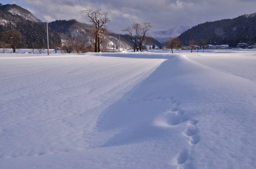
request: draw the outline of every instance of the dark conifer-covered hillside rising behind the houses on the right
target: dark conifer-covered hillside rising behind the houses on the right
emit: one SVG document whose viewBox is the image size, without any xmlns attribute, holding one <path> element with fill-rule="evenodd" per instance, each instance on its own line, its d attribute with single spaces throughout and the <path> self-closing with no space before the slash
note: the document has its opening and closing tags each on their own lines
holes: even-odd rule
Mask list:
<svg viewBox="0 0 256 169">
<path fill-rule="evenodd" d="M 253 44 L 256 41 L 256 13 L 243 15 L 234 19 L 221 19 L 214 22 L 198 24 L 185 31 L 179 36 L 184 45 L 189 40 L 200 42 L 208 39 L 209 44 L 229 44 L 236 46 L 237 43 Z"/>
</svg>

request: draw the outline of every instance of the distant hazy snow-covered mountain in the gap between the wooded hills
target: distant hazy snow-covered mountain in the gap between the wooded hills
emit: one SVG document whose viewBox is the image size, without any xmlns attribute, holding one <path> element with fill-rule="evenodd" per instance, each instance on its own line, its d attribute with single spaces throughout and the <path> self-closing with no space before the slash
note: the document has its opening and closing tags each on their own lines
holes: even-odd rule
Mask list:
<svg viewBox="0 0 256 169">
<path fill-rule="evenodd" d="M 181 33 L 188 30 L 190 26 L 175 26 L 173 28 L 163 30 L 163 31 L 156 31 L 149 33 L 150 36 L 158 40 L 159 42 L 163 43 L 166 42 L 167 38 L 170 36 L 177 37 Z"/>
</svg>

